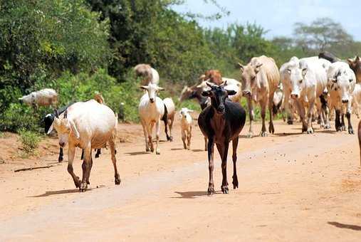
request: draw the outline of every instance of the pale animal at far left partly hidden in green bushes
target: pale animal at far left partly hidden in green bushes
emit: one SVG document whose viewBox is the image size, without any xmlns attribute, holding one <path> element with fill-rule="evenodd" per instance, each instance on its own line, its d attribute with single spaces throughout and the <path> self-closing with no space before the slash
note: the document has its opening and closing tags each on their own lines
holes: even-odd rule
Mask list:
<svg viewBox="0 0 361 242">
<path fill-rule="evenodd" d="M 56 93 L 56 90 L 46 88 L 25 95 L 19 100 L 33 107 L 56 105 L 58 93 Z"/>
</svg>

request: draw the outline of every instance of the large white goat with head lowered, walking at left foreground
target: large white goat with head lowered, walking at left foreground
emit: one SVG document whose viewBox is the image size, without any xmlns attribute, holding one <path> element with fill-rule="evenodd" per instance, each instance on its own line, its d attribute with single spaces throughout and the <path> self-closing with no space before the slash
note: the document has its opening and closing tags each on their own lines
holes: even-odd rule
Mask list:
<svg viewBox="0 0 361 242">
<path fill-rule="evenodd" d="M 92 149 L 99 149 L 110 145 L 110 152 L 115 173 L 115 184 L 120 184 L 120 176 L 117 172 L 117 159 L 115 158 L 115 137 L 117 130 L 117 117 L 108 106 L 95 100 L 88 102 L 75 102 L 55 117 L 48 134 L 56 129 L 59 137 L 59 145 L 64 147 L 68 143 L 68 172 L 76 187 L 85 191 L 89 184 L 90 170 L 93 165 Z M 80 181 L 73 172 L 73 160 L 75 147 L 84 151 L 83 178 Z"/>
</svg>

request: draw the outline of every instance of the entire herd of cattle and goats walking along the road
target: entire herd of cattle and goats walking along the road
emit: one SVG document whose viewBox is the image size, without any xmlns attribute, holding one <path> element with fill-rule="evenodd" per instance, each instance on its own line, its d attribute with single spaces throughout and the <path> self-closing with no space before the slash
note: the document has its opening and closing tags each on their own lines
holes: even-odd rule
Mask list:
<svg viewBox="0 0 361 242">
<path fill-rule="evenodd" d="M 250 127 L 248 137 L 253 136 L 253 105 L 261 106 L 261 137 L 267 136 L 266 110 L 269 112 L 268 132 L 274 133 L 273 117 L 281 110 L 286 112 L 289 124 L 298 115 L 302 123 L 302 132 L 312 134 L 313 121 L 318 120 L 320 127 L 330 129 L 330 119 L 335 117 L 335 130 L 346 130 L 344 116 L 347 118 L 347 130 L 353 134 L 351 124 L 352 110 L 358 117 L 361 101 L 361 60 L 358 56 L 341 61 L 330 53 L 320 53 L 309 58 L 293 57 L 278 68 L 273 58 L 259 56 L 251 58 L 247 65 L 239 63 L 241 82 L 221 76 L 219 70 L 207 70 L 199 78 L 199 83 L 192 87 L 185 86 L 179 97 L 182 102 L 197 99 L 202 108 L 198 117 L 198 125 L 204 135 L 205 150 L 209 159 L 208 194 L 214 193 L 214 144 L 221 156 L 222 185 L 221 191 L 228 193 L 226 178 L 226 160 L 229 142 L 232 141 L 234 164 L 234 189 L 238 187 L 236 174 L 236 149 L 239 133 L 246 122 L 246 111 L 240 105 L 245 97 L 248 105 Z M 172 141 L 172 125 L 176 109 L 172 98 L 163 100 L 157 93 L 164 88 L 159 87 L 157 70 L 147 64 L 134 68 L 140 77 L 144 94 L 140 98 L 138 110 L 145 137 L 145 151 L 160 154 L 159 132 L 164 122 L 167 140 Z M 58 95 L 55 90 L 43 89 L 20 98 L 28 105 L 55 105 Z M 179 112 L 181 120 L 182 141 L 184 149 L 189 149 L 192 137 L 192 110 L 183 107 Z M 306 115 L 307 114 L 307 115 Z M 63 160 L 63 147 L 68 144 L 68 172 L 75 186 L 85 191 L 89 184 L 90 170 L 93 165 L 92 151 L 110 147 L 115 170 L 115 184 L 120 184 L 120 176 L 116 164 L 116 127 L 117 115 L 107 105 L 100 93 L 87 102 L 75 102 L 56 110 L 45 117 L 46 132 L 53 129 L 58 132 L 61 147 L 59 161 Z M 360 125 L 359 125 L 360 126 Z M 155 127 L 155 146 L 152 133 Z M 168 134 L 169 129 L 169 134 Z M 361 130 L 359 129 L 359 139 Z M 75 147 L 83 149 L 83 177 L 80 181 L 73 172 Z M 360 142 L 361 147 L 361 142 Z"/>
</svg>

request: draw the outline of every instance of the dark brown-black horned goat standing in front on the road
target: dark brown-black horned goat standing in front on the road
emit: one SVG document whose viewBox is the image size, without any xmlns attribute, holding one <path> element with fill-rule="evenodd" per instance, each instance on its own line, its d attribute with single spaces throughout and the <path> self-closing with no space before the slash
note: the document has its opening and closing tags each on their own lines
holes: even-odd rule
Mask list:
<svg viewBox="0 0 361 242">
<path fill-rule="evenodd" d="M 208 161 L 209 161 L 209 186 L 208 195 L 214 194 L 214 143 L 218 149 L 222 160 L 222 185 L 221 191 L 228 194 L 227 181 L 227 154 L 229 142 L 233 144 L 233 187 L 236 189 L 238 184 L 236 161 L 237 161 L 237 146 L 239 141 L 239 133 L 246 122 L 246 111 L 237 102 L 231 102 L 229 95 L 234 95 L 234 90 L 225 90 L 224 85 L 209 85 L 211 90 L 204 91 L 202 95 L 211 98 L 211 106 L 206 107 L 198 117 L 198 125 L 205 137 L 208 138 Z"/>
</svg>

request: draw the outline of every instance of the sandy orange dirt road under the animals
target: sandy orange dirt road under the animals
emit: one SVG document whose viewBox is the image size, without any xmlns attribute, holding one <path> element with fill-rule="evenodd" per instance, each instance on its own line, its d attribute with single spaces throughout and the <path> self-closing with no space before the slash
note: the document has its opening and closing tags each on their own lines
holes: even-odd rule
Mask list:
<svg viewBox="0 0 361 242">
<path fill-rule="evenodd" d="M 66 162 L 14 172 L 56 164 L 56 140 L 48 139 L 39 160 L 0 164 L 0 241 L 360 241 L 357 136 L 314 126 L 314 135 L 300 135 L 299 124 L 279 121 L 276 135 L 251 140 L 246 126 L 239 189 L 219 191 L 217 153 L 214 196 L 206 196 L 208 163 L 198 127 L 192 150 L 184 151 L 177 123 L 174 142 L 162 142 L 157 156 L 143 152 L 140 125 L 120 125 L 130 141 L 117 145 L 122 183 L 115 186 L 109 150 L 103 150 L 85 193 L 73 186 Z M 228 164 L 231 184 L 231 159 Z"/>
</svg>

